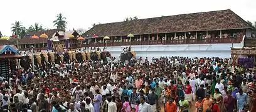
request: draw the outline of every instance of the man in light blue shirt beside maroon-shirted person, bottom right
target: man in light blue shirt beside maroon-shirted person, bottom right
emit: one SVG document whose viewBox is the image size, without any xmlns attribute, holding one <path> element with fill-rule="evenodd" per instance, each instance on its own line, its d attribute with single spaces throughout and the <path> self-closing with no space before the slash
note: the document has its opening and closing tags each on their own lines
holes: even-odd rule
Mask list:
<svg viewBox="0 0 256 112">
<path fill-rule="evenodd" d="M 235 98 L 237 99 L 237 109 L 238 111 L 243 110 L 243 105 L 247 104 L 247 94 L 243 93 L 241 88 L 238 89 L 238 93 L 235 94 Z"/>
</svg>

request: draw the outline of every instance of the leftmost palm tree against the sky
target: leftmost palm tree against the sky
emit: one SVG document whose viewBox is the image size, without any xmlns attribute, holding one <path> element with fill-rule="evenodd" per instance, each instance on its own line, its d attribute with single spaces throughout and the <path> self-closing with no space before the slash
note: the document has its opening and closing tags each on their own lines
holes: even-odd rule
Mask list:
<svg viewBox="0 0 256 112">
<path fill-rule="evenodd" d="M 18 37 L 24 37 L 24 35 L 26 35 L 26 28 L 21 24 L 21 22 L 16 21 L 11 25 L 11 32 L 13 32 L 14 35 L 18 35 Z"/>
</svg>

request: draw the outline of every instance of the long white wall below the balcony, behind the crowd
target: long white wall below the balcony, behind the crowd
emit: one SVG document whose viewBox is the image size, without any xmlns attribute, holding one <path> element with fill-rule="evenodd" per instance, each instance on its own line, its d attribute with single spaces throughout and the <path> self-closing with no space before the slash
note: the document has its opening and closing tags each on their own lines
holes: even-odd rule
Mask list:
<svg viewBox="0 0 256 112">
<path fill-rule="evenodd" d="M 233 47 L 242 47 L 243 44 L 233 44 Z M 107 47 L 115 58 L 119 58 L 126 46 Z M 132 50 L 136 57 L 221 57 L 229 58 L 232 44 L 185 44 L 185 45 L 134 45 Z M 103 49 L 103 47 L 101 47 Z"/>
</svg>

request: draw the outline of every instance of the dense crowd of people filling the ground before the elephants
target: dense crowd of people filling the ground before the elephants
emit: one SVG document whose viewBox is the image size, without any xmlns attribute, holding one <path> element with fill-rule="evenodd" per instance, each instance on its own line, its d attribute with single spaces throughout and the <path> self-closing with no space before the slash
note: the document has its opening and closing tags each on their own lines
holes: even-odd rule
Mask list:
<svg viewBox="0 0 256 112">
<path fill-rule="evenodd" d="M 255 112 L 255 73 L 217 57 L 20 69 L 0 79 L 0 111 Z"/>
</svg>

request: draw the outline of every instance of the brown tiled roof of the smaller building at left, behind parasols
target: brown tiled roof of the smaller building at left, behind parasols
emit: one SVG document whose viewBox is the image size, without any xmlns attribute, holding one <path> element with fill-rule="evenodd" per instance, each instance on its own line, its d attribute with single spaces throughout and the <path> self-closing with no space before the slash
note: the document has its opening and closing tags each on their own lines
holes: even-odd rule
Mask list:
<svg viewBox="0 0 256 112">
<path fill-rule="evenodd" d="M 48 38 L 51 39 L 51 37 L 53 36 L 53 34 L 55 34 L 55 32 L 60 31 L 60 29 L 50 29 L 50 30 L 44 30 L 41 32 L 33 32 L 30 33 L 29 35 L 33 36 L 33 35 L 37 35 L 38 37 L 40 37 L 41 34 L 46 34 L 48 35 Z M 47 39 L 45 38 L 39 38 L 39 39 L 32 39 L 30 37 L 23 37 L 22 39 L 19 39 L 19 44 L 39 44 L 39 43 L 47 43 Z"/>
</svg>

